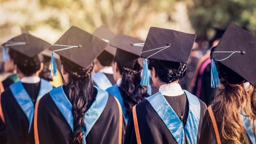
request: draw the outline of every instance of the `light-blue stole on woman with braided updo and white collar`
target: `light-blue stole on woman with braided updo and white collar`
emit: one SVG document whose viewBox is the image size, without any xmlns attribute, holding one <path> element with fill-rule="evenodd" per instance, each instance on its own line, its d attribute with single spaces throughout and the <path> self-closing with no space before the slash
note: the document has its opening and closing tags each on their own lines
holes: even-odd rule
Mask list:
<svg viewBox="0 0 256 144">
<path fill-rule="evenodd" d="M 200 102 L 196 96 L 183 90 L 189 103 L 189 113 L 185 127 L 166 101 L 161 92 L 146 98 L 156 113 L 160 116 L 173 138 L 178 144 L 184 144 L 185 135 L 189 144 L 197 143 L 198 125 L 200 120 Z"/>
</svg>

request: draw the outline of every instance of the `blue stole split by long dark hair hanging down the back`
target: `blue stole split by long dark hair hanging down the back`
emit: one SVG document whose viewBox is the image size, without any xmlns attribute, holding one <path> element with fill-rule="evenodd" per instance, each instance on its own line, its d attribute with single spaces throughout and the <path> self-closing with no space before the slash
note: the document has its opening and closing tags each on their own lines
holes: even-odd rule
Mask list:
<svg viewBox="0 0 256 144">
<path fill-rule="evenodd" d="M 107 101 L 108 101 L 108 93 L 104 90 L 99 89 L 98 87 L 94 86 L 97 89 L 97 95 L 95 101 L 88 109 L 84 117 L 84 124 L 86 128 L 86 133 L 83 135 L 83 143 L 86 144 L 86 136 L 91 131 L 93 125 L 98 120 L 99 116 L 103 112 Z M 66 119 L 67 123 L 69 124 L 72 132 L 74 132 L 74 118 L 72 114 L 72 104 L 69 101 L 67 95 L 63 91 L 63 85 L 53 89 L 50 92 L 50 96 L 53 99 L 53 102 L 56 104 L 64 118 Z M 83 130 L 82 130 L 82 133 Z"/>
</svg>

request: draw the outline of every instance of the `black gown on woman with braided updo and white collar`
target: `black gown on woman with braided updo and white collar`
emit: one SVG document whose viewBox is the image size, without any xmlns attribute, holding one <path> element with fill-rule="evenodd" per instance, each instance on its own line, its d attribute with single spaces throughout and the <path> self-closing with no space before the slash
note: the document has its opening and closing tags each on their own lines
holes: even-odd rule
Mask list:
<svg viewBox="0 0 256 144">
<path fill-rule="evenodd" d="M 175 113 L 180 117 L 180 112 L 178 109 L 177 101 L 179 103 L 179 108 L 181 111 L 181 115 L 183 117 L 183 124 L 186 123 L 186 119 L 188 117 L 188 100 L 185 94 L 180 96 L 164 96 L 170 106 L 173 108 Z M 175 98 L 176 97 L 176 98 Z M 200 121 L 198 127 L 198 136 L 199 139 L 201 126 L 203 122 L 203 116 L 206 111 L 205 104 L 200 101 L 201 112 L 200 112 Z M 136 106 L 136 113 L 139 125 L 139 134 L 142 144 L 175 144 L 177 143 L 175 139 L 172 137 L 172 134 L 166 128 L 165 124 L 159 117 L 159 115 L 155 112 L 151 104 L 148 100 L 143 100 Z M 124 144 L 136 144 L 136 134 L 134 129 L 134 121 L 133 114 L 130 114 L 129 121 L 126 128 Z M 186 140 L 185 140 L 185 143 Z"/>
</svg>

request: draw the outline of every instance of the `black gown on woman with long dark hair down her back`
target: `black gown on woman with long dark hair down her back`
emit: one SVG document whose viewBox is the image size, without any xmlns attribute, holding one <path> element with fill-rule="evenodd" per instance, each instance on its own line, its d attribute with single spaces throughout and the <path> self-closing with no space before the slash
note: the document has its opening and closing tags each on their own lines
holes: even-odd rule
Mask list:
<svg viewBox="0 0 256 144">
<path fill-rule="evenodd" d="M 66 93 L 65 86 L 63 86 L 63 89 Z M 123 141 L 126 128 L 124 117 L 122 123 Z M 109 94 L 103 112 L 86 136 L 86 143 L 117 144 L 118 124 L 119 111 L 117 101 L 114 96 Z M 69 144 L 69 138 L 73 134 L 69 124 L 55 105 L 49 93 L 44 95 L 38 104 L 37 130 L 40 144 Z"/>
</svg>

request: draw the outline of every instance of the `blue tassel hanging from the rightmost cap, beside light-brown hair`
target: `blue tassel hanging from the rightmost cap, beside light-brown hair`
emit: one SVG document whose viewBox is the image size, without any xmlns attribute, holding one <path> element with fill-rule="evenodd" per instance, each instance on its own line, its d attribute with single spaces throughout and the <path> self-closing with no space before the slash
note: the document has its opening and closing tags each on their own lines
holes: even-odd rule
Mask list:
<svg viewBox="0 0 256 144">
<path fill-rule="evenodd" d="M 219 74 L 217 71 L 217 67 L 215 64 L 214 58 L 212 58 L 212 67 L 211 67 L 211 87 L 219 87 L 220 86 L 220 81 L 219 81 Z"/>
</svg>

